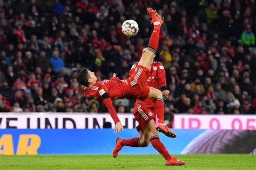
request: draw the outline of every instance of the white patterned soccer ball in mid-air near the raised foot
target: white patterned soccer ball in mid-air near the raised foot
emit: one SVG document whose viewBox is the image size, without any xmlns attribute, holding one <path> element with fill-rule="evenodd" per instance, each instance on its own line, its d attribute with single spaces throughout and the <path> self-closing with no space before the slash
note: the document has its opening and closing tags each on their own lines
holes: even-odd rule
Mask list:
<svg viewBox="0 0 256 170">
<path fill-rule="evenodd" d="M 128 37 L 136 36 L 139 32 L 139 26 L 135 20 L 125 20 L 122 24 L 122 32 Z"/>
</svg>

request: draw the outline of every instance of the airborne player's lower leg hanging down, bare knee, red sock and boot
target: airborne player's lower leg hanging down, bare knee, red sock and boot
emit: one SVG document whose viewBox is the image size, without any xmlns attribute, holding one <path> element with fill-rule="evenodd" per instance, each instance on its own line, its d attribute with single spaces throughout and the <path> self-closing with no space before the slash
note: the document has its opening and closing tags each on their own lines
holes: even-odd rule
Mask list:
<svg viewBox="0 0 256 170">
<path fill-rule="evenodd" d="M 158 117 L 159 124 L 157 125 L 157 130 L 164 133 L 167 137 L 176 138 L 177 135 L 164 122 L 164 100 L 161 91 L 153 87 L 149 87 L 149 89 L 148 97 L 154 98 L 154 109 Z"/>
</svg>

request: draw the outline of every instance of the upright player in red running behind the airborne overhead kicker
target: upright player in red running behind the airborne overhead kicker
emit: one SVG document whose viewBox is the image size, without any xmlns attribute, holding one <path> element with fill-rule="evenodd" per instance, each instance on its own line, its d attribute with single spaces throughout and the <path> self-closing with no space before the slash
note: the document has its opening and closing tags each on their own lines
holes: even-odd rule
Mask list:
<svg viewBox="0 0 256 170">
<path fill-rule="evenodd" d="M 138 62 L 135 62 L 130 70 L 130 75 L 133 74 Z M 161 89 L 164 97 L 169 96 L 169 90 L 166 87 L 165 69 L 161 62 L 153 62 L 151 65 L 151 76 L 147 80 L 147 86 Z M 130 147 L 146 147 L 151 143 L 152 146 L 165 158 L 165 165 L 184 165 L 184 161 L 180 161 L 175 157 L 172 157 L 167 151 L 163 143 L 159 139 L 158 132 L 156 130 L 156 111 L 154 109 L 154 100 L 147 98 L 144 101 L 136 100 L 133 109 L 133 115 L 139 122 L 137 131 L 139 137 L 131 139 L 117 138 L 116 147 L 113 149 L 113 157 L 116 158 L 118 152 L 122 150 L 123 146 Z M 173 133 L 173 136 L 175 134 Z M 176 137 L 176 135 L 174 136 Z"/>
</svg>

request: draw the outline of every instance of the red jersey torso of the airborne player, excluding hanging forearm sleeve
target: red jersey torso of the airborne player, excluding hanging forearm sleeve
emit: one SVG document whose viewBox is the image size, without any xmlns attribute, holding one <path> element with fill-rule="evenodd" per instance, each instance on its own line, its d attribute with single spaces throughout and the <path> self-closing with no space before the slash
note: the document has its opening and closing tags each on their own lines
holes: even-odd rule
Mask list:
<svg viewBox="0 0 256 170">
<path fill-rule="evenodd" d="M 112 77 L 110 80 L 98 81 L 89 88 L 84 88 L 87 97 L 95 97 L 97 100 L 105 93 L 109 93 L 110 98 L 127 98 L 130 96 L 130 86 L 125 81 L 121 81 L 118 77 Z"/>
</svg>

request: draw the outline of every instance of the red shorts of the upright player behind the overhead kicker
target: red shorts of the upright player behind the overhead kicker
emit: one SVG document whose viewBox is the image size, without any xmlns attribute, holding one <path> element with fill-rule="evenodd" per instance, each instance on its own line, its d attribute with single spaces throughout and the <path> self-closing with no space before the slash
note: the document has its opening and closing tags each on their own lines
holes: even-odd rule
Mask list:
<svg viewBox="0 0 256 170">
<path fill-rule="evenodd" d="M 156 114 L 154 108 L 147 108 L 143 105 L 136 104 L 134 106 L 133 115 L 139 122 L 139 125 L 136 127 L 138 132 L 141 130 L 144 131 L 151 119 L 153 119 L 156 123 Z"/>
</svg>

